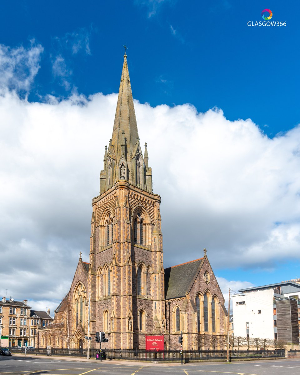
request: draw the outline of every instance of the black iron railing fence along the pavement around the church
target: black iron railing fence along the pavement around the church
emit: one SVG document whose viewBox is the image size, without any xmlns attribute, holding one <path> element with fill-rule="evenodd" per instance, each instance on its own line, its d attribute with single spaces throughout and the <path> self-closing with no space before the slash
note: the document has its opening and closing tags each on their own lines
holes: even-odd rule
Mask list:
<svg viewBox="0 0 300 375">
<path fill-rule="evenodd" d="M 25 353 L 25 348 L 10 348 L 12 353 Z M 96 358 L 99 349 L 91 348 L 90 357 Z M 123 359 L 133 361 L 152 361 L 152 362 L 179 362 L 181 361 L 180 350 L 144 350 L 144 349 L 105 349 L 107 359 Z M 298 352 L 300 355 L 300 351 Z M 58 349 L 39 348 L 26 350 L 27 354 L 42 354 L 45 356 L 72 356 L 87 357 L 87 349 Z M 290 354 L 290 352 L 288 352 Z M 183 361 L 199 360 L 226 360 L 226 350 L 183 350 Z M 285 358 L 285 350 L 230 350 L 230 360 L 239 359 L 260 359 L 260 358 Z"/>
</svg>

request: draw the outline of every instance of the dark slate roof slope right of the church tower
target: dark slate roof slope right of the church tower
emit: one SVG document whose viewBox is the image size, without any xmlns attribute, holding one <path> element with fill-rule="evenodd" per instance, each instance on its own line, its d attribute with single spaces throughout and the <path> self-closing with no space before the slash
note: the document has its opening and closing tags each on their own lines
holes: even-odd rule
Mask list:
<svg viewBox="0 0 300 375">
<path fill-rule="evenodd" d="M 204 258 L 165 269 L 165 299 L 184 297 L 204 262 Z"/>
</svg>

